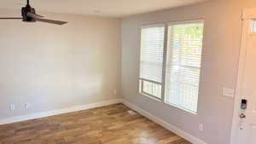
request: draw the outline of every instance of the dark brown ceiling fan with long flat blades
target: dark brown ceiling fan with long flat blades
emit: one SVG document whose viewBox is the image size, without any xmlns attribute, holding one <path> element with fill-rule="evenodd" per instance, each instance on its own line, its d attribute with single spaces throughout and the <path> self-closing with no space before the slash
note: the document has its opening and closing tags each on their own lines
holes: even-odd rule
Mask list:
<svg viewBox="0 0 256 144">
<path fill-rule="evenodd" d="M 40 22 L 47 22 L 55 25 L 67 24 L 67 21 L 43 19 L 44 16 L 36 14 L 36 10 L 30 6 L 29 0 L 26 0 L 26 7 L 23 7 L 21 9 L 21 16 L 22 17 L 0 17 L 0 20 L 23 20 L 25 22 L 40 21 Z"/>
</svg>

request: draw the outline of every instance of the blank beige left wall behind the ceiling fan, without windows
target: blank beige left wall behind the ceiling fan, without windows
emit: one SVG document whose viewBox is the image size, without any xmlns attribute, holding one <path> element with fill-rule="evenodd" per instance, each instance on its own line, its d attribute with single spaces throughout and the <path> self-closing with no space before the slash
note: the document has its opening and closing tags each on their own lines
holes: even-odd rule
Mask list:
<svg viewBox="0 0 256 144">
<path fill-rule="evenodd" d="M 40 14 L 69 23 L 0 21 L 0 119 L 119 98 L 120 20 Z M 0 10 L 12 15 L 20 9 Z M 24 110 L 24 102 L 31 107 Z"/>
</svg>

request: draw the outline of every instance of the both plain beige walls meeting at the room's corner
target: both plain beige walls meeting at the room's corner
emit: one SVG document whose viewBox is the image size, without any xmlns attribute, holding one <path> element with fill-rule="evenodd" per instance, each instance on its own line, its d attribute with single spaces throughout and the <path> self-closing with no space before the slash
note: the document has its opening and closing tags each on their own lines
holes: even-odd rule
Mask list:
<svg viewBox="0 0 256 144">
<path fill-rule="evenodd" d="M 69 23 L 53 26 L 1 20 L 0 119 L 119 98 L 122 77 L 126 101 L 207 144 L 229 144 L 234 100 L 223 97 L 222 88 L 236 86 L 241 10 L 246 7 L 256 7 L 256 3 L 212 0 L 127 17 L 122 23 L 122 39 L 118 19 L 42 13 Z M 18 12 L 0 10 L 0 16 L 20 15 Z M 198 18 L 205 19 L 205 39 L 195 116 L 138 95 L 138 40 L 139 26 Z M 15 111 L 9 110 L 9 102 L 15 103 Z M 24 110 L 24 102 L 32 107 Z M 204 124 L 203 132 L 198 130 L 199 123 Z"/>
</svg>

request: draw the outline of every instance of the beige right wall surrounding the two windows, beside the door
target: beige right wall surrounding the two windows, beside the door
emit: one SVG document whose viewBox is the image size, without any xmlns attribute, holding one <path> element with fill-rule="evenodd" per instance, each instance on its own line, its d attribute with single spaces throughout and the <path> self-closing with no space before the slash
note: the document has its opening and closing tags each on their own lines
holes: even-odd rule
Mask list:
<svg viewBox="0 0 256 144">
<path fill-rule="evenodd" d="M 250 0 L 212 0 L 188 7 L 139 14 L 122 23 L 122 89 L 126 101 L 207 144 L 229 144 L 234 100 L 222 88 L 236 89 L 241 42 L 241 11 Z M 193 115 L 138 94 L 139 27 L 177 20 L 205 20 L 198 114 Z M 204 124 L 204 131 L 198 124 Z"/>
</svg>

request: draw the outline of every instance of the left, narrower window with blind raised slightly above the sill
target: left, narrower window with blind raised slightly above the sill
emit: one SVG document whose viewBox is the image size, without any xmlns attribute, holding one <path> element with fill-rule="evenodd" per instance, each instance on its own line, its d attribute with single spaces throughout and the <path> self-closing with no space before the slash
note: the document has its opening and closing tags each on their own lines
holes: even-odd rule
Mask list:
<svg viewBox="0 0 256 144">
<path fill-rule="evenodd" d="M 162 95 L 165 26 L 141 29 L 140 93 L 156 99 Z"/>
</svg>

